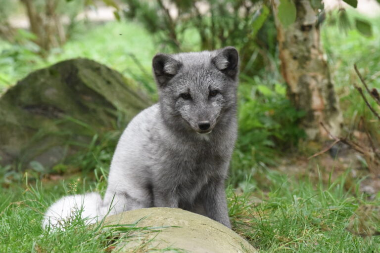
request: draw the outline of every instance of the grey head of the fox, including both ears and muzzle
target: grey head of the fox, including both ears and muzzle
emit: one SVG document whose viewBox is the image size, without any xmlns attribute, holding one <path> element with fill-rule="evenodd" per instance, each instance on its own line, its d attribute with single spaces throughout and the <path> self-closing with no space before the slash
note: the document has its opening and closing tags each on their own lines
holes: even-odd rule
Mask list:
<svg viewBox="0 0 380 253">
<path fill-rule="evenodd" d="M 153 74 L 166 124 L 210 133 L 225 113 L 236 107 L 238 62 L 238 51 L 231 46 L 156 54 Z"/>
</svg>

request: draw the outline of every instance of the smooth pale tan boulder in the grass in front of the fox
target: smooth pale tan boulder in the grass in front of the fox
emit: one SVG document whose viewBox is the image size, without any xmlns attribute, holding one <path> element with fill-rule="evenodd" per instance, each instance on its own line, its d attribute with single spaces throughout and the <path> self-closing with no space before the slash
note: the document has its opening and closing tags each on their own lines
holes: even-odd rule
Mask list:
<svg viewBox="0 0 380 253">
<path fill-rule="evenodd" d="M 208 217 L 175 208 L 144 208 L 109 216 L 105 225 L 134 224 L 128 241 L 118 244 L 117 252 L 127 253 L 172 249 L 165 252 L 255 253 L 247 241 L 226 226 Z M 127 225 L 128 226 L 128 225 Z M 139 251 L 140 252 L 140 251 Z M 149 251 L 150 252 L 150 251 Z"/>
</svg>

